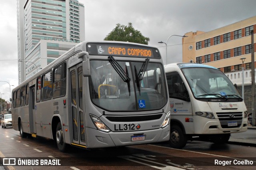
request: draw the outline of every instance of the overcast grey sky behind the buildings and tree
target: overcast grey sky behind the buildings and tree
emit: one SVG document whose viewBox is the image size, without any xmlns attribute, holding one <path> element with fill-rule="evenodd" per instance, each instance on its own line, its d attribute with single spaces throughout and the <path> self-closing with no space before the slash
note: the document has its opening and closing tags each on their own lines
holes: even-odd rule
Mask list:
<svg viewBox="0 0 256 170">
<path fill-rule="evenodd" d="M 103 40 L 117 23 L 133 24 L 149 45 L 160 49 L 171 35 L 208 32 L 256 16 L 256 0 L 79 0 L 85 6 L 86 40 Z M 182 61 L 182 39 L 168 40 L 168 61 Z M 10 97 L 10 85 L 18 85 L 16 0 L 0 1 L 0 93 Z M 8 83 L 1 82 L 7 81 Z M 11 90 L 13 86 L 11 86 Z"/>
</svg>

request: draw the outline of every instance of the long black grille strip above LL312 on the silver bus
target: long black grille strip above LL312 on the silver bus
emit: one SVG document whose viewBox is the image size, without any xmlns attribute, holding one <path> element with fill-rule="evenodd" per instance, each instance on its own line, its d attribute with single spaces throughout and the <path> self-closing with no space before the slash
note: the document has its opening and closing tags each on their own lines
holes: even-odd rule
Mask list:
<svg viewBox="0 0 256 170">
<path fill-rule="evenodd" d="M 143 115 L 143 116 L 107 116 L 106 119 L 112 122 L 138 122 L 152 121 L 162 117 L 163 114 Z"/>
</svg>

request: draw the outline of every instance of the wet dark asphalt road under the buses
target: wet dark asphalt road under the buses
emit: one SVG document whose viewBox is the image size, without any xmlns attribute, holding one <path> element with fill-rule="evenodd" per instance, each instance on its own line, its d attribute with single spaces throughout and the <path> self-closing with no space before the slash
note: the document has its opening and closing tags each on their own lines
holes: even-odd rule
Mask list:
<svg viewBox="0 0 256 170">
<path fill-rule="evenodd" d="M 15 158 L 27 165 L 61 164 L 50 166 L 5 166 L 6 169 L 97 169 L 97 170 L 181 170 L 181 169 L 255 169 L 256 147 L 235 144 L 216 145 L 210 142 L 192 141 L 182 149 L 170 148 L 167 142 L 84 150 L 70 147 L 67 153 L 60 152 L 53 140 L 47 138 L 20 138 L 12 128 L 0 128 L 0 157 Z M 22 161 L 23 162 L 22 162 Z M 54 160 L 54 161 L 53 161 Z M 27 162 L 26 162 L 27 161 Z M 33 162 L 34 161 L 34 162 Z M 234 162 L 236 161 L 236 162 Z M 240 166 L 238 162 L 247 161 Z M 230 166 L 229 163 L 232 165 Z M 223 165 L 225 164 L 225 166 Z"/>
</svg>

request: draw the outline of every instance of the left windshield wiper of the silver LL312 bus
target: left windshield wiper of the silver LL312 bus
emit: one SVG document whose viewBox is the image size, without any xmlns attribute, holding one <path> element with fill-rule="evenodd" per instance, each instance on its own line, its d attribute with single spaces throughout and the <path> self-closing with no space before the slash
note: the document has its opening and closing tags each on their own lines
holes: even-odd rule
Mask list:
<svg viewBox="0 0 256 170">
<path fill-rule="evenodd" d="M 114 59 L 113 56 L 108 56 L 109 62 L 112 65 L 112 67 L 115 69 L 115 71 L 118 73 L 118 75 L 121 77 L 121 79 L 127 83 L 129 96 L 131 95 L 131 88 L 130 88 L 130 81 L 131 78 L 129 77 L 127 66 L 125 65 L 125 71 L 121 67 L 121 65 Z"/>
</svg>

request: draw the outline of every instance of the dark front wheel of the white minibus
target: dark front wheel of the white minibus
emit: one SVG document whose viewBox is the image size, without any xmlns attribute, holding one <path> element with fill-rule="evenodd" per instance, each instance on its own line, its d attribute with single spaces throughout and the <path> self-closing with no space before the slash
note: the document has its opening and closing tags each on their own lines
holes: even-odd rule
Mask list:
<svg viewBox="0 0 256 170">
<path fill-rule="evenodd" d="M 169 144 L 172 148 L 183 148 L 187 144 L 187 136 L 177 125 L 171 126 Z"/>
</svg>

